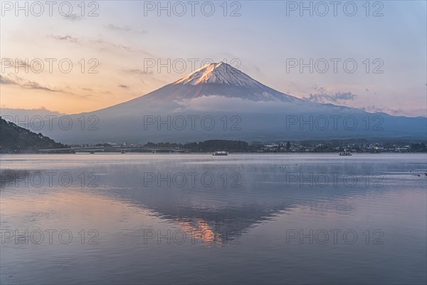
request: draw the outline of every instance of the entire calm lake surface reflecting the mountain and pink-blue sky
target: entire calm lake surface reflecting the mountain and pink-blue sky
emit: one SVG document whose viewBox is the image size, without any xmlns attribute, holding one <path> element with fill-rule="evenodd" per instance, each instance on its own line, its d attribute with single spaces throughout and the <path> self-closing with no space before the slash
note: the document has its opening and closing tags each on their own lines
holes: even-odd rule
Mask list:
<svg viewBox="0 0 427 285">
<path fill-rule="evenodd" d="M 1 284 L 426 284 L 426 154 L 2 155 Z"/>
</svg>

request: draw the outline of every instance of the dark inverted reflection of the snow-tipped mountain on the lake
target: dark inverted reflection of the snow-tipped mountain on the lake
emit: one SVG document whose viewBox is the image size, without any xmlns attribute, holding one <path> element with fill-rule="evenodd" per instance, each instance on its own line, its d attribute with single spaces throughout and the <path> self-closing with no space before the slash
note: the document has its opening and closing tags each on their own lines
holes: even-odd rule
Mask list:
<svg viewBox="0 0 427 285">
<path fill-rule="evenodd" d="M 414 183 L 422 187 L 426 182 L 425 177 L 408 171 L 426 172 L 420 157 L 410 165 L 400 165 L 396 157 L 388 155 L 380 155 L 374 164 L 370 155 L 342 158 L 336 154 L 80 156 L 90 157 L 89 160 L 74 157 L 78 155 L 72 155 L 72 163 L 60 168 L 60 172 L 74 177 L 75 190 L 82 190 L 82 173 L 87 176 L 96 173 L 95 185 L 99 186 L 85 187 L 83 192 L 107 195 L 110 199 L 148 209 L 154 216 L 207 244 L 236 241 L 256 225 L 301 208 L 313 208 L 318 214 L 351 214 L 353 197 L 393 191 L 396 180 L 408 187 Z M 1 191 L 3 195 L 9 191 L 24 195 L 28 192 L 25 185 L 31 181 L 37 184 L 40 174 L 55 171 L 58 170 L 1 170 Z M 378 171 L 380 176 L 374 176 Z M 194 184 L 189 173 L 196 177 Z M 330 173 L 342 175 L 335 180 Z M 329 177 L 326 185 L 325 174 Z M 203 175 L 205 182 L 201 180 Z M 347 185 L 343 183 L 345 175 L 350 175 Z M 352 185 L 354 176 L 358 177 L 356 185 Z M 186 177 L 184 184 L 182 177 Z M 92 182 L 92 178 L 85 184 Z M 53 183 L 53 187 L 36 187 L 36 190 L 46 194 L 74 191 L 73 187 L 57 185 L 58 180 Z"/>
</svg>

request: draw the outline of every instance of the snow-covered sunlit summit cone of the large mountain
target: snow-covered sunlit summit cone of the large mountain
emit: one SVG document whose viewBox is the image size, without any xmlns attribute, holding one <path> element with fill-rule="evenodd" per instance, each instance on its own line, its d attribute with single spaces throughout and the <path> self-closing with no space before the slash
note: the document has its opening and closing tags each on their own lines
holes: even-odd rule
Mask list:
<svg viewBox="0 0 427 285">
<path fill-rule="evenodd" d="M 233 86 L 260 87 L 260 83 L 233 66 L 223 63 L 210 63 L 188 76 L 175 81 L 174 85 L 196 86 L 201 83 L 227 84 Z"/>
</svg>

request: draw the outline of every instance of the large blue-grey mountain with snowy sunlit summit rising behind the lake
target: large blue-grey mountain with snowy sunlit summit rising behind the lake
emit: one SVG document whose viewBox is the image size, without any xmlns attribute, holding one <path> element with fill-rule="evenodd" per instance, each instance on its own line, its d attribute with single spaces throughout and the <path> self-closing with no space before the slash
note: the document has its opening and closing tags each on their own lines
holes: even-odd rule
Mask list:
<svg viewBox="0 0 427 285">
<path fill-rule="evenodd" d="M 87 124 L 81 128 L 82 116 Z M 95 116 L 95 117 L 92 117 Z M 210 116 L 210 117 L 209 117 Z M 312 103 L 212 63 L 133 100 L 71 115 L 73 128 L 35 130 L 60 142 L 186 142 L 426 138 L 426 118 Z"/>
</svg>

